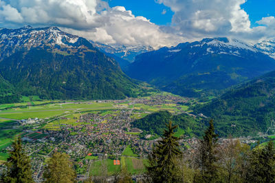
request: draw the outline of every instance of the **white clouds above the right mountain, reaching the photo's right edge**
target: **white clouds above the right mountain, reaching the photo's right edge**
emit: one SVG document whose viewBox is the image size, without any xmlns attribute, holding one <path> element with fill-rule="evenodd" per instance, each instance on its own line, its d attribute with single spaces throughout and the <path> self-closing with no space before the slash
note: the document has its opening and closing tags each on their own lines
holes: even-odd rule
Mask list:
<svg viewBox="0 0 275 183">
<path fill-rule="evenodd" d="M 247 0 L 156 0 L 175 12 L 173 29 L 186 39 L 231 36 L 255 43 L 274 36 L 274 17 L 263 17 L 251 27 L 250 17 L 241 5 Z"/>
</svg>

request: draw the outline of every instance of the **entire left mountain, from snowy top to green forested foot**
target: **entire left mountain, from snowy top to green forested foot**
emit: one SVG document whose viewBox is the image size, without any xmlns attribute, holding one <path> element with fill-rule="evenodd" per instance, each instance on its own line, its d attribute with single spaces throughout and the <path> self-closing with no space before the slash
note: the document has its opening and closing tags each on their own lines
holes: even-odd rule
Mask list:
<svg viewBox="0 0 275 183">
<path fill-rule="evenodd" d="M 137 87 L 113 58 L 55 27 L 1 28 L 0 75 L 8 98 L 118 99 Z"/>
</svg>

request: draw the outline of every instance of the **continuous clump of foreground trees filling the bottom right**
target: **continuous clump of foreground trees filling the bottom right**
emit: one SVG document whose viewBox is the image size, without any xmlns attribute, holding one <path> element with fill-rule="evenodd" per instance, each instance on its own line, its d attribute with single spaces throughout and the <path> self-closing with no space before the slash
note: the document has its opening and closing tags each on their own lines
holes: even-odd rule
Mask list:
<svg viewBox="0 0 275 183">
<path fill-rule="evenodd" d="M 255 149 L 233 139 L 218 143 L 211 120 L 197 150 L 186 153 L 179 150 L 176 128 L 170 122 L 149 155 L 145 182 L 275 182 L 272 141 Z"/>
</svg>

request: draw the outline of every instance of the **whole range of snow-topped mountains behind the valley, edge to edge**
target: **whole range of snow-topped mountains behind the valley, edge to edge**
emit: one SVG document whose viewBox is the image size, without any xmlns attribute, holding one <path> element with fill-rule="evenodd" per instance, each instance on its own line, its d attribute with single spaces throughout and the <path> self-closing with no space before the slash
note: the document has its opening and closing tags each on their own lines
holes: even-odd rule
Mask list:
<svg viewBox="0 0 275 183">
<path fill-rule="evenodd" d="M 0 28 L 0 96 L 124 98 L 135 95 L 131 78 L 181 96 L 214 95 L 275 70 L 274 47 L 215 38 L 153 50 L 87 41 L 56 27 Z"/>
</svg>

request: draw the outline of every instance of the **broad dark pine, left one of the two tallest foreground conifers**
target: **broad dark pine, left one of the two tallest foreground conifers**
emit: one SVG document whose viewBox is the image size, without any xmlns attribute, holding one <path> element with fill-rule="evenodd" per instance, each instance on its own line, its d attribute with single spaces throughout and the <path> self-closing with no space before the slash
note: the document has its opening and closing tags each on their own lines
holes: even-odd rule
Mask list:
<svg viewBox="0 0 275 183">
<path fill-rule="evenodd" d="M 148 181 L 150 182 L 182 182 L 177 160 L 181 155 L 179 151 L 179 138 L 175 137 L 172 122 L 166 125 L 162 140 L 160 140 L 149 155 L 149 165 L 146 166 Z"/>
</svg>

